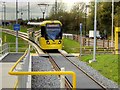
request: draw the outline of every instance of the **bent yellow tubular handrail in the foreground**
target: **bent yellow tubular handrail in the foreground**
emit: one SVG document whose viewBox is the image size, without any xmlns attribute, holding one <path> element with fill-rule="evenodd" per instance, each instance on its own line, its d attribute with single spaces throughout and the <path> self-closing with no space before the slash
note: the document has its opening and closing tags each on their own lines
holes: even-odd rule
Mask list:
<svg viewBox="0 0 120 90">
<path fill-rule="evenodd" d="M 24 55 L 13 65 L 13 67 L 8 72 L 10 75 L 72 75 L 73 80 L 73 90 L 76 89 L 76 74 L 73 71 L 40 71 L 40 72 L 25 72 L 19 71 L 14 72 L 14 69 L 18 65 L 18 63 L 23 60 L 23 58 L 27 55 L 28 50 L 25 51 Z"/>
</svg>

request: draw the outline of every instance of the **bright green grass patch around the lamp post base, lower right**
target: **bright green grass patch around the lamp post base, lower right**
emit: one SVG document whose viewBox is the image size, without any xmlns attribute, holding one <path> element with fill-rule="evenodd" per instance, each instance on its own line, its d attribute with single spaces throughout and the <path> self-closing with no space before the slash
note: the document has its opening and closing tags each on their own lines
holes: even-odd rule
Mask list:
<svg viewBox="0 0 120 90">
<path fill-rule="evenodd" d="M 81 60 L 88 62 L 92 60 L 92 55 L 82 56 Z M 102 75 L 118 82 L 118 55 L 96 55 L 97 62 L 88 63 L 91 67 L 98 70 Z"/>
</svg>

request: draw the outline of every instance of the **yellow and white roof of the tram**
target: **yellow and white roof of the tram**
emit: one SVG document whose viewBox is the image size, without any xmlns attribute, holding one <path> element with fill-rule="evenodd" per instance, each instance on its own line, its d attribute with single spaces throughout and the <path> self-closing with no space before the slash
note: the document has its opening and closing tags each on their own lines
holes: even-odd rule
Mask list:
<svg viewBox="0 0 120 90">
<path fill-rule="evenodd" d="M 62 23 L 58 20 L 46 20 L 46 21 L 42 21 L 42 22 L 28 22 L 28 25 L 40 25 L 40 26 L 45 26 L 46 24 L 52 24 L 52 23 L 59 23 L 60 25 L 62 25 Z"/>
</svg>

